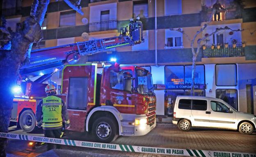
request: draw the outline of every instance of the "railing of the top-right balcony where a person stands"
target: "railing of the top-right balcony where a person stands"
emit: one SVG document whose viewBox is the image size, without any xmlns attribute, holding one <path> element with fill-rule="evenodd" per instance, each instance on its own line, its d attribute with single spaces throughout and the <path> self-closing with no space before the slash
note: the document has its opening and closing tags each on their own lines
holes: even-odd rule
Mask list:
<svg viewBox="0 0 256 157">
<path fill-rule="evenodd" d="M 211 17 L 210 17 L 211 16 Z M 217 18 L 217 17 L 216 17 Z M 238 19 L 241 18 L 241 13 L 238 11 L 235 11 L 233 9 L 229 9 L 227 11 L 220 12 L 220 20 L 232 20 L 232 19 Z M 201 11 L 201 22 L 206 22 L 209 19 L 211 21 L 214 20 L 214 15 L 212 15 L 212 11 L 209 10 L 207 12 Z M 218 18 L 217 18 L 218 19 Z"/>
</svg>

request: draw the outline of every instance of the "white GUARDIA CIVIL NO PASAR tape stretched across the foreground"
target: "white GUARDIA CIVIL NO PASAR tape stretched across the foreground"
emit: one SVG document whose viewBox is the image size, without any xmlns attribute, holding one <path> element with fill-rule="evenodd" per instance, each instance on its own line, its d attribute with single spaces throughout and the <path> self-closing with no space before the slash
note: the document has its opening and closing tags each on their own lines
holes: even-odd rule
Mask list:
<svg viewBox="0 0 256 157">
<path fill-rule="evenodd" d="M 72 139 L 56 139 L 49 137 L 30 136 L 12 133 L 0 133 L 0 137 L 9 139 L 21 139 L 26 141 L 46 142 L 52 144 L 62 144 L 68 146 L 80 146 L 88 148 L 98 148 L 107 150 L 119 150 L 124 152 L 137 153 L 153 153 L 164 155 L 183 155 L 191 157 L 256 157 L 253 153 L 223 152 L 212 150 L 192 150 L 192 149 L 176 149 L 176 148 L 157 148 L 144 146 L 131 146 L 124 144 L 105 144 L 98 142 L 76 141 Z"/>
</svg>

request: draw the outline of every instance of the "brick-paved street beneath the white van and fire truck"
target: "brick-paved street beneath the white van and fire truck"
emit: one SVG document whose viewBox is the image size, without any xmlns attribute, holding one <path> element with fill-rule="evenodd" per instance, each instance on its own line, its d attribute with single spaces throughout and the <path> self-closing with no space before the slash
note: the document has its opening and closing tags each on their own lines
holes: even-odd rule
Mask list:
<svg viewBox="0 0 256 157">
<path fill-rule="evenodd" d="M 15 128 L 15 126 L 11 127 Z M 11 130 L 10 133 L 23 133 L 22 130 Z M 43 136 L 38 133 L 31 135 Z M 78 133 L 71 133 L 65 138 L 81 141 L 91 141 L 90 136 Z M 18 143 L 18 142 L 16 142 Z M 165 148 L 197 149 L 197 150 L 218 150 L 230 152 L 256 153 L 256 133 L 252 135 L 242 135 L 238 131 L 192 128 L 189 132 L 178 130 L 173 124 L 159 123 L 149 134 L 140 137 L 119 137 L 114 144 L 127 144 L 135 146 L 151 146 Z M 86 151 L 90 153 L 102 153 L 109 155 L 119 155 L 127 157 L 155 157 L 165 155 L 154 155 L 147 153 L 129 153 L 114 150 L 101 150 L 95 148 L 82 148 L 74 146 L 62 146 L 65 150 Z M 8 152 L 12 148 L 8 147 Z M 37 149 L 34 155 L 38 155 L 45 150 L 45 146 Z M 26 155 L 27 156 L 27 155 Z M 169 157 L 170 155 L 166 155 Z M 11 156 L 10 156 L 11 157 Z"/>
</svg>

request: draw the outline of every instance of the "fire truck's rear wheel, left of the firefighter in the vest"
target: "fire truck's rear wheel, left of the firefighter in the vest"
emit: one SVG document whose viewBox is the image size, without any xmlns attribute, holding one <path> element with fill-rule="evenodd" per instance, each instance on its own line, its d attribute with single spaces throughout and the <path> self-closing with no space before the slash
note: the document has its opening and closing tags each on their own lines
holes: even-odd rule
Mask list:
<svg viewBox="0 0 256 157">
<path fill-rule="evenodd" d="M 19 123 L 21 129 L 26 133 L 30 133 L 37 129 L 36 127 L 36 117 L 31 110 L 25 110 L 21 113 L 21 117 L 19 119 Z"/>
</svg>

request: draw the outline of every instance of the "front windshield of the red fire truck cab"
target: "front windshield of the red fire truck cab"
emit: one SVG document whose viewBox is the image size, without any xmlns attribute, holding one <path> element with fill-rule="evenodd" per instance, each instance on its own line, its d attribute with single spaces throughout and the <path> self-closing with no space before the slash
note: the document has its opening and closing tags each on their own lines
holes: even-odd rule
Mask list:
<svg viewBox="0 0 256 157">
<path fill-rule="evenodd" d="M 136 70 L 136 90 L 143 95 L 154 95 L 152 75 L 147 70 Z"/>
</svg>

